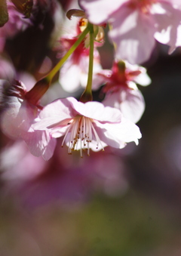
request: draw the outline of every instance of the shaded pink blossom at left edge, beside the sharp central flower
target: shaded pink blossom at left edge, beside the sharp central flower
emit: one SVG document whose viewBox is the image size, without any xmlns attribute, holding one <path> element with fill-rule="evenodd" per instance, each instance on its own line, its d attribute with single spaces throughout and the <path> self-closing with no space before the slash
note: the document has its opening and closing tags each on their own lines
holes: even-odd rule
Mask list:
<svg viewBox="0 0 181 256">
<path fill-rule="evenodd" d="M 7 86 L 7 82 L 6 82 Z M 56 146 L 48 130 L 34 131 L 32 123 L 38 118 L 40 106 L 35 106 L 26 100 L 26 87 L 22 82 L 9 85 L 4 90 L 2 99 L 2 131 L 13 139 L 22 138 L 34 156 L 42 156 L 45 160 L 51 158 Z"/>
</svg>

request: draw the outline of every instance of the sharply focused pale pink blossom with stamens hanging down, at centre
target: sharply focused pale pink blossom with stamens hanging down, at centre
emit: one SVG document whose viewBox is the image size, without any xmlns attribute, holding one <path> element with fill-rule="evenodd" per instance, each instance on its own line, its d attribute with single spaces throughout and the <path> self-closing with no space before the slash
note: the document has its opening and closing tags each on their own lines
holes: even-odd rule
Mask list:
<svg viewBox="0 0 181 256">
<path fill-rule="evenodd" d="M 118 109 L 90 101 L 81 103 L 73 97 L 55 100 L 41 110 L 38 130 L 50 129 L 52 137 L 62 137 L 72 150 L 103 150 L 106 146 L 125 147 L 127 142 L 138 143 L 140 129 L 121 116 Z"/>
</svg>

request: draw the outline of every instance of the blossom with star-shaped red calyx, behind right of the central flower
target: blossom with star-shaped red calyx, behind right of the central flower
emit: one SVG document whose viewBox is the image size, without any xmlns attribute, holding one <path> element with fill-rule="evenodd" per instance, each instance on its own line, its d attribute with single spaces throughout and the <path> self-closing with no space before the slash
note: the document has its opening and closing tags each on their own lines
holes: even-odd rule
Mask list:
<svg viewBox="0 0 181 256">
<path fill-rule="evenodd" d="M 145 101 L 136 83 L 143 86 L 150 84 L 146 69 L 120 61 L 113 63 L 112 70 L 104 69 L 98 75 L 103 78 L 102 82 L 106 82 L 103 104 L 120 109 L 125 118 L 138 122 L 143 115 Z"/>
</svg>

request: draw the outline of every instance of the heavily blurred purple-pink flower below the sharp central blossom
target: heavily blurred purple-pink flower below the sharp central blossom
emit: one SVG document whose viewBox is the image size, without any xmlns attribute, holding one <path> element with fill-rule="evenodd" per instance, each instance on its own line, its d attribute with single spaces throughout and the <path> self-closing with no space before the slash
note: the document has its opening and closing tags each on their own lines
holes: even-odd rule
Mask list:
<svg viewBox="0 0 181 256">
<path fill-rule="evenodd" d="M 113 156 L 108 149 L 80 159 L 62 150 L 61 140 L 58 145 L 48 162 L 32 156 L 23 141 L 1 150 L 4 189 L 17 198 L 23 208 L 32 211 L 56 202 L 72 209 L 87 202 L 95 192 L 121 196 L 127 191 L 127 167 L 120 156 Z"/>
</svg>

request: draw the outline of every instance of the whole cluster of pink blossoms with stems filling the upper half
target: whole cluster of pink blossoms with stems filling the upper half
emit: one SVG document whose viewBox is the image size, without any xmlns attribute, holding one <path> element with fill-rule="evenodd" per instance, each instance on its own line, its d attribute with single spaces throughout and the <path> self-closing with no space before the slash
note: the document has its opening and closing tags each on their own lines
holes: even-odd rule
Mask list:
<svg viewBox="0 0 181 256">
<path fill-rule="evenodd" d="M 151 83 L 140 64 L 149 60 L 156 40 L 169 45 L 170 53 L 181 45 L 179 1 L 79 0 L 77 5 L 79 9 L 66 13 L 72 29 L 60 31 L 56 46 L 52 45 L 57 63 L 49 59 L 43 78 L 36 75 L 37 70 L 32 72 L 38 82 L 23 82 L 11 58 L 1 55 L 2 131 L 24 140 L 32 155 L 45 160 L 54 155 L 59 137 L 63 137 L 62 147 L 65 144 L 69 154 L 80 150 L 81 157 L 84 151 L 90 155 L 90 150 L 107 146 L 122 149 L 132 141 L 138 144 L 142 135 L 136 123 L 143 116 L 145 100 L 137 85 Z M 43 30 L 42 23 L 37 26 L 39 10 L 42 14 L 49 11 L 54 23 L 62 12 L 56 0 L 3 1 L 0 51 L 6 51 L 8 39 L 22 31 Z M 99 51 L 106 43 L 107 31 L 115 51 L 110 69 L 103 68 Z M 44 56 L 41 70 L 46 60 Z M 53 91 L 57 72 L 60 92 L 44 104 L 43 96 Z M 80 91 L 81 97 L 75 99 Z M 93 91 L 100 91 L 100 101 L 94 100 Z M 64 97 L 66 93 L 69 97 Z"/>
</svg>

